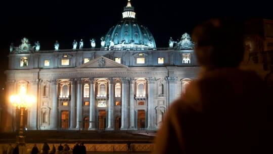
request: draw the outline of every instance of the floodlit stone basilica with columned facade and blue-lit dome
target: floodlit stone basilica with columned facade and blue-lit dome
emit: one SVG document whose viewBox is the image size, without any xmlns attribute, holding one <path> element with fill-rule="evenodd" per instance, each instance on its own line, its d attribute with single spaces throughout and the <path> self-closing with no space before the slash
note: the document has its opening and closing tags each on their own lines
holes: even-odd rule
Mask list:
<svg viewBox="0 0 273 154">
<path fill-rule="evenodd" d="M 171 102 L 197 77 L 190 36 L 156 48 L 149 29 L 135 19 L 130 1 L 123 19 L 96 48 L 40 51 L 27 38 L 11 46 L 7 95 L 22 87 L 37 101 L 26 110 L 29 130 L 156 130 Z M 97 45 L 98 46 L 98 45 Z M 18 129 L 18 111 L 7 103 L 6 132 Z"/>
</svg>

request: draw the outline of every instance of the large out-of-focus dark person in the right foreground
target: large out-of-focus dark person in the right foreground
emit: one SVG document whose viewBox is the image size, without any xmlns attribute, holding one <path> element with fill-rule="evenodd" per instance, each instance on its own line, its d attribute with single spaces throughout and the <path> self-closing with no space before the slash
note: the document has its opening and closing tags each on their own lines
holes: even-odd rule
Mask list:
<svg viewBox="0 0 273 154">
<path fill-rule="evenodd" d="M 242 22 L 211 19 L 192 37 L 201 72 L 170 106 L 154 153 L 272 153 L 266 86 L 255 72 L 239 68 Z"/>
</svg>

